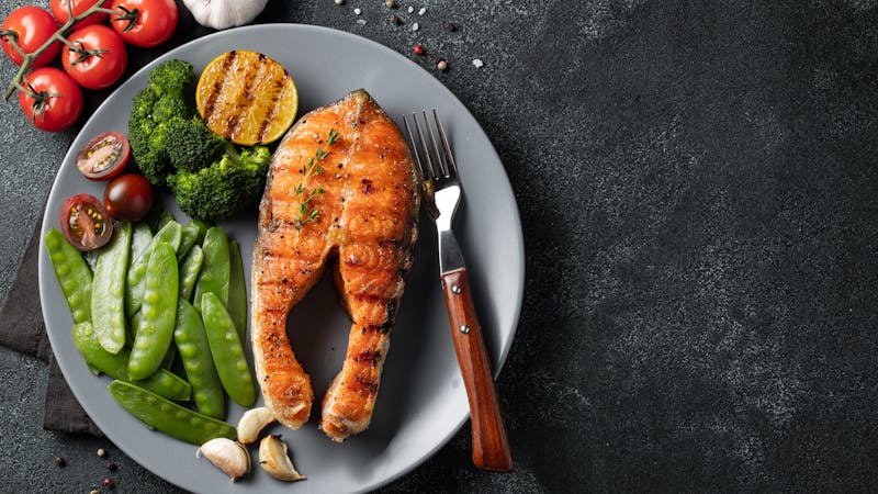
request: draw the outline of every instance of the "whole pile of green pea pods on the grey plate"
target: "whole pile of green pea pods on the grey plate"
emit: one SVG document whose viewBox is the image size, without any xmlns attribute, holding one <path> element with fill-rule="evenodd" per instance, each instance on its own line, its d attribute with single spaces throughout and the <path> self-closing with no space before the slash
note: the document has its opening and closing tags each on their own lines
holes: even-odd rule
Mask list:
<svg viewBox="0 0 878 494">
<path fill-rule="evenodd" d="M 256 401 L 238 244 L 217 226 L 182 226 L 165 212 L 117 223 L 104 248 L 85 255 L 54 228 L 45 245 L 74 344 L 95 375 L 115 380 L 108 388 L 113 397 L 180 440 L 234 439 L 235 428 L 222 422 L 226 394 L 241 406 Z M 198 412 L 173 403 L 190 400 Z"/>
</svg>

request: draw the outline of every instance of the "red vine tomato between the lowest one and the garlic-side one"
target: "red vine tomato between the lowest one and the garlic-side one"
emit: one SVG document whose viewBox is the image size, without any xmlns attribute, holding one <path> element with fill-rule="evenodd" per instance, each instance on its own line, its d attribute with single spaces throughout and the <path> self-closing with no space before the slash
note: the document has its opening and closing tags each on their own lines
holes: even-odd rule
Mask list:
<svg viewBox="0 0 878 494">
<path fill-rule="evenodd" d="M 105 25 L 89 25 L 74 31 L 64 48 L 64 69 L 79 86 L 104 89 L 125 72 L 128 54 L 122 37 Z"/>
</svg>

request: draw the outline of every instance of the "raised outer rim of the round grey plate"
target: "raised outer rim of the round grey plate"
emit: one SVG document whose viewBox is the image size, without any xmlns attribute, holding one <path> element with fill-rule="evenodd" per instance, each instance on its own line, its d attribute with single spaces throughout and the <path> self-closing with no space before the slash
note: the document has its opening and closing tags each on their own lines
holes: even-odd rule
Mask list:
<svg viewBox="0 0 878 494">
<path fill-rule="evenodd" d="M 161 55 L 157 56 L 151 61 L 149 61 L 148 64 L 144 65 L 136 72 L 134 72 L 131 76 L 128 76 L 124 81 L 122 81 L 113 90 L 113 92 L 111 92 L 109 96 L 105 97 L 105 99 L 101 102 L 101 104 L 92 112 L 92 114 L 89 116 L 89 119 L 81 124 L 80 130 L 77 132 L 77 135 L 74 137 L 70 146 L 67 149 L 67 153 L 65 154 L 64 158 L 61 159 L 60 164 L 58 165 L 58 169 L 55 172 L 55 177 L 53 178 L 53 181 L 52 181 L 52 188 L 49 189 L 49 193 L 48 193 L 48 195 L 46 198 L 46 206 L 43 210 L 43 220 L 42 220 L 42 223 L 41 223 L 40 249 L 38 249 L 38 258 L 37 258 L 37 284 L 38 284 L 38 290 L 40 290 L 41 313 L 43 315 L 43 321 L 47 322 L 48 317 L 47 317 L 47 310 L 46 310 L 46 304 L 45 304 L 45 299 L 46 299 L 45 290 L 46 290 L 46 288 L 44 287 L 44 283 L 43 283 L 42 280 L 43 279 L 48 279 L 47 278 L 48 276 L 54 276 L 54 272 L 52 272 L 52 270 L 50 270 L 50 263 L 49 263 L 49 261 L 47 259 L 47 254 L 46 254 L 46 249 L 45 249 L 45 235 L 48 232 L 48 229 L 54 226 L 54 224 L 53 224 L 54 222 L 50 220 L 50 218 L 54 218 L 54 215 L 46 214 L 47 213 L 46 210 L 47 210 L 49 203 L 52 202 L 53 198 L 55 197 L 56 189 L 57 189 L 56 186 L 58 183 L 58 177 L 61 173 L 61 169 L 64 168 L 64 164 L 67 162 L 71 158 L 71 156 L 74 156 L 76 154 L 76 149 L 75 149 L 74 145 L 78 141 L 80 141 L 82 138 L 82 128 L 85 126 L 87 126 L 89 124 L 89 122 L 91 122 L 91 120 L 94 117 L 94 115 L 106 111 L 105 106 L 109 108 L 108 102 L 120 90 L 120 88 L 122 86 L 124 86 L 128 80 L 139 76 L 142 72 L 151 70 L 158 64 L 167 60 L 168 58 L 172 58 L 177 52 L 182 50 L 182 49 L 184 49 L 187 47 L 190 47 L 191 45 L 200 45 L 200 44 L 203 44 L 203 43 L 209 43 L 210 40 L 212 40 L 214 37 L 226 37 L 226 36 L 229 36 L 230 33 L 233 33 L 232 35 L 234 35 L 234 33 L 249 32 L 249 31 L 261 31 L 261 30 L 266 30 L 266 29 L 269 29 L 269 30 L 271 30 L 271 29 L 281 29 L 281 30 L 290 29 L 290 30 L 302 30 L 302 31 L 305 31 L 305 32 L 314 31 L 314 32 L 320 32 L 320 33 L 324 33 L 324 34 L 334 35 L 334 36 L 347 37 L 347 38 L 349 38 L 350 41 L 352 41 L 354 43 L 362 43 L 362 44 L 371 45 L 372 48 L 378 49 L 379 52 L 384 52 L 385 54 L 390 55 L 392 58 L 395 58 L 397 60 L 402 60 L 403 63 L 408 64 L 409 66 L 413 66 L 413 67 L 417 68 L 417 70 L 419 70 L 423 75 L 428 76 L 429 80 L 432 80 L 432 81 L 436 82 L 435 89 L 437 89 L 437 90 L 439 90 L 441 92 L 444 92 L 444 96 L 447 98 L 449 98 L 451 101 L 455 101 L 458 104 L 461 105 L 461 108 L 465 111 L 463 116 L 464 117 L 469 117 L 469 119 L 471 119 L 473 121 L 473 123 L 475 124 L 475 127 L 477 128 L 477 131 L 482 133 L 482 135 L 484 136 L 485 141 L 488 143 L 488 145 L 489 145 L 488 146 L 489 147 L 488 150 L 491 153 L 493 153 L 493 158 L 497 162 L 500 164 L 502 179 L 505 181 L 504 183 L 505 183 L 506 188 L 511 193 L 513 201 L 511 201 L 511 209 L 510 209 L 509 213 L 511 215 L 513 223 L 516 226 L 518 226 L 518 228 L 515 232 L 515 235 L 514 235 L 514 238 L 513 238 L 513 243 L 514 243 L 514 249 L 515 249 L 515 251 L 516 251 L 516 254 L 518 256 L 518 273 L 519 273 L 519 276 L 518 276 L 517 287 L 516 287 L 516 294 L 515 294 L 515 301 L 514 301 L 515 306 L 514 306 L 513 317 L 511 317 L 511 327 L 509 328 L 509 337 L 505 341 L 505 344 L 502 346 L 502 348 L 498 348 L 497 368 L 494 370 L 494 380 L 496 381 L 497 378 L 499 377 L 503 368 L 504 368 L 504 364 L 506 363 L 506 359 L 509 356 L 509 351 L 511 349 L 513 343 L 515 340 L 515 337 L 516 337 L 516 334 L 517 334 L 517 330 L 518 330 L 518 323 L 519 323 L 519 318 L 520 318 L 520 315 L 521 315 L 521 308 L 522 308 L 522 305 L 524 305 L 525 280 L 527 278 L 527 273 L 526 273 L 526 262 L 525 262 L 524 232 L 522 232 L 522 226 L 521 226 L 521 217 L 520 217 L 520 214 L 519 214 L 519 211 L 518 211 L 518 203 L 515 200 L 516 199 L 515 198 L 515 190 L 513 189 L 511 182 L 509 181 L 509 176 L 506 173 L 506 169 L 503 166 L 503 160 L 500 159 L 499 155 L 497 154 L 496 148 L 494 147 L 494 143 L 491 141 L 491 138 L 488 137 L 487 133 L 485 133 L 485 131 L 482 127 L 482 125 L 479 124 L 479 121 L 472 114 L 470 109 L 466 108 L 466 105 L 463 104 L 463 102 L 460 101 L 460 99 L 458 99 L 458 97 L 454 96 L 454 93 L 451 92 L 451 90 L 448 89 L 448 87 L 446 87 L 444 83 L 439 81 L 432 74 L 427 71 L 424 67 L 421 67 L 418 64 L 416 64 L 415 61 L 408 59 L 407 57 L 405 57 L 404 55 L 399 54 L 395 49 L 390 48 L 390 47 L 387 47 L 387 46 L 385 46 L 385 45 L 383 45 L 383 44 L 381 44 L 381 43 L 379 43 L 376 41 L 370 40 L 368 37 L 364 37 L 364 36 L 361 36 L 359 34 L 354 34 L 354 33 L 351 33 L 351 32 L 348 32 L 348 31 L 341 31 L 341 30 L 337 30 L 337 29 L 334 29 L 334 27 L 314 25 L 314 24 L 300 24 L 300 23 L 251 24 L 251 25 L 233 27 L 233 29 L 228 29 L 228 30 L 222 30 L 222 31 L 217 31 L 215 33 L 211 33 L 211 34 L 201 36 L 201 37 L 196 37 L 194 40 L 191 40 L 191 41 L 189 41 L 189 42 L 187 42 L 187 43 L 184 43 L 182 45 L 179 45 L 179 46 L 177 46 L 177 47 L 175 47 L 175 48 L 172 48 L 170 50 L 167 50 L 167 52 L 162 53 Z M 47 270 L 48 270 L 48 272 L 47 272 Z M 438 273 L 437 273 L 437 278 L 438 278 Z M 56 341 L 57 337 L 53 336 L 53 332 L 49 330 L 48 324 L 45 324 L 45 326 L 46 326 L 46 334 L 47 334 L 48 339 L 49 339 L 49 345 L 53 348 L 53 352 L 57 353 L 55 351 L 55 346 L 58 344 Z M 61 357 L 61 359 L 57 359 L 56 358 L 56 361 L 58 361 L 58 367 L 61 370 L 61 374 L 64 375 L 65 381 L 68 383 L 71 392 L 74 393 L 74 395 L 76 396 L 77 401 L 80 403 L 82 408 L 86 411 L 86 413 L 89 416 L 89 418 L 92 422 L 94 422 L 94 424 L 98 425 L 98 427 L 101 428 L 101 430 L 103 431 L 103 428 L 101 427 L 101 425 L 102 425 L 102 423 L 104 423 L 104 420 L 103 419 L 95 419 L 92 416 L 92 414 L 89 413 L 89 407 L 90 406 L 85 404 L 79 397 L 80 394 L 82 393 L 81 390 L 78 391 L 79 384 L 77 382 L 70 382 L 70 380 L 67 378 L 67 373 L 68 372 L 65 369 L 67 367 L 66 366 L 66 360 L 67 359 L 64 358 L 64 357 Z M 65 361 L 65 364 L 61 363 L 63 361 Z M 381 486 L 387 485 L 387 484 L 401 479 L 402 476 L 408 474 L 414 469 L 416 469 L 417 467 L 419 467 L 424 462 L 426 462 L 428 459 L 432 458 L 439 449 L 443 448 L 451 440 L 451 438 L 454 437 L 458 434 L 458 431 L 463 426 L 463 424 L 470 418 L 470 415 L 471 414 L 470 414 L 470 412 L 468 409 L 463 414 L 463 416 L 458 420 L 458 424 L 453 428 L 450 429 L 449 434 L 446 437 L 443 437 L 441 440 L 437 441 L 436 445 L 432 448 L 430 448 L 427 452 L 425 452 L 417 460 L 410 462 L 405 468 L 399 469 L 397 472 L 395 472 L 395 473 L 393 473 L 391 475 L 387 475 L 384 479 L 375 481 L 375 482 L 373 482 L 373 483 L 371 483 L 369 485 L 364 485 L 361 489 L 358 489 L 357 491 L 353 491 L 353 492 L 360 493 L 360 492 L 368 492 L 368 491 L 371 491 L 371 490 L 374 490 L 374 489 L 379 489 Z M 108 435 L 108 439 L 110 439 L 112 441 L 112 438 L 109 435 Z M 115 445 L 115 441 L 113 441 L 113 444 Z M 116 445 L 116 447 L 119 447 L 123 452 L 125 452 L 125 454 L 127 454 L 130 458 L 132 458 L 134 461 L 136 461 L 140 467 L 145 468 L 146 470 L 149 470 L 149 472 L 153 473 L 154 475 L 162 479 L 166 482 L 169 482 L 169 483 L 173 484 L 177 487 L 185 489 L 185 487 L 182 487 L 177 482 L 175 482 L 173 480 L 170 480 L 170 479 L 166 478 L 164 474 L 159 473 L 157 471 L 157 469 L 155 468 L 155 464 L 149 460 L 148 456 L 140 454 L 137 449 L 123 447 L 122 445 Z"/>
</svg>

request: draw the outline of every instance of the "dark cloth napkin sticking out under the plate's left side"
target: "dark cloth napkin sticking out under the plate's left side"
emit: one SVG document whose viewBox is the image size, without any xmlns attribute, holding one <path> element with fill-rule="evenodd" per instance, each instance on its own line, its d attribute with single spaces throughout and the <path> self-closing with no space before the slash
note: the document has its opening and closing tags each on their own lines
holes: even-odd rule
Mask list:
<svg viewBox="0 0 878 494">
<path fill-rule="evenodd" d="M 34 228 L 3 310 L 0 311 L 0 345 L 48 362 L 43 428 L 103 436 L 79 405 L 52 355 L 40 305 L 37 259 L 41 224 L 42 221 L 37 222 Z"/>
</svg>

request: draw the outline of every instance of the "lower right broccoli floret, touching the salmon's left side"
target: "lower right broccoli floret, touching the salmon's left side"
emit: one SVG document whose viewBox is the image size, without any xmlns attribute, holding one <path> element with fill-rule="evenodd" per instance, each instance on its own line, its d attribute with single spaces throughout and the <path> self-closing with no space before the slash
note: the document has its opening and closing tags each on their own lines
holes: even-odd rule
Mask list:
<svg viewBox="0 0 878 494">
<path fill-rule="evenodd" d="M 238 155 L 229 147 L 219 161 L 199 171 L 178 170 L 168 184 L 180 209 L 192 217 L 221 220 L 252 205 L 262 194 L 269 166 L 268 148 Z"/>
</svg>

